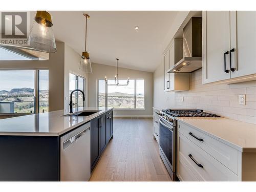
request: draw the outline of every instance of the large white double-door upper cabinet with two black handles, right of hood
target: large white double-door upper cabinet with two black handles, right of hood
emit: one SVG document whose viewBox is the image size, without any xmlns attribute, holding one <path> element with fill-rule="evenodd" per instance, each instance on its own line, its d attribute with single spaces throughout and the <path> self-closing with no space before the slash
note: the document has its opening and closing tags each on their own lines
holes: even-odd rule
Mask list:
<svg viewBox="0 0 256 192">
<path fill-rule="evenodd" d="M 256 12 L 203 11 L 202 20 L 203 83 L 256 79 Z"/>
</svg>

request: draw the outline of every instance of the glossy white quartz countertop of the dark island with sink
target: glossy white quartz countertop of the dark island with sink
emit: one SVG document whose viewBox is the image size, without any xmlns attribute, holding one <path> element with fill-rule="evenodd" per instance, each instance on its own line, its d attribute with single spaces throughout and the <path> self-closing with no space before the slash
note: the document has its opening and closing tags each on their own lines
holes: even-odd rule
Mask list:
<svg viewBox="0 0 256 192">
<path fill-rule="evenodd" d="M 84 110 L 100 110 L 86 117 L 63 116 L 69 113 L 59 110 L 0 119 L 0 135 L 59 136 L 112 109 L 94 107 L 73 109 L 74 113 Z"/>
</svg>

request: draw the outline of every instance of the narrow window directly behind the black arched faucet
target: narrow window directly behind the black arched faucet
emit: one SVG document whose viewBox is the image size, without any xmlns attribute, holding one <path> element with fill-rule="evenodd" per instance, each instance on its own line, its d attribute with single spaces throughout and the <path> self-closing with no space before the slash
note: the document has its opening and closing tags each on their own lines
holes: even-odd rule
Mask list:
<svg viewBox="0 0 256 192">
<path fill-rule="evenodd" d="M 73 73 L 69 74 L 69 94 L 75 89 L 79 89 L 84 93 L 85 84 L 86 84 L 86 80 L 83 77 L 74 75 Z M 73 108 L 84 106 L 81 92 L 76 91 L 75 93 L 73 93 L 72 101 L 73 103 L 75 103 Z"/>
</svg>

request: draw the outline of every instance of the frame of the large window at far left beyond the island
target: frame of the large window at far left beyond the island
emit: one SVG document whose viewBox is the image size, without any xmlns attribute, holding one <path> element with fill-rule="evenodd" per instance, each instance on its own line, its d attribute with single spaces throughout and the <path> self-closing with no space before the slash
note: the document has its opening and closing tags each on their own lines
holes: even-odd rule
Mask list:
<svg viewBox="0 0 256 192">
<path fill-rule="evenodd" d="M 34 71 L 34 113 L 3 113 L 4 115 L 31 115 L 31 114 L 39 114 L 39 71 L 40 70 L 48 70 L 49 68 L 4 68 L 0 69 L 0 71 Z"/>
</svg>

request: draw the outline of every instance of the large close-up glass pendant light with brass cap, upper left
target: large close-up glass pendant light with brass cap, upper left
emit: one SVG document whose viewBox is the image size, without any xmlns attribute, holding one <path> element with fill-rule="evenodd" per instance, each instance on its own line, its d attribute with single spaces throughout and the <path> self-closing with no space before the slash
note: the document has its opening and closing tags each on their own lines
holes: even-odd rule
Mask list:
<svg viewBox="0 0 256 192">
<path fill-rule="evenodd" d="M 54 53 L 57 51 L 51 15 L 47 11 L 36 11 L 28 45 L 35 50 Z"/>
</svg>

